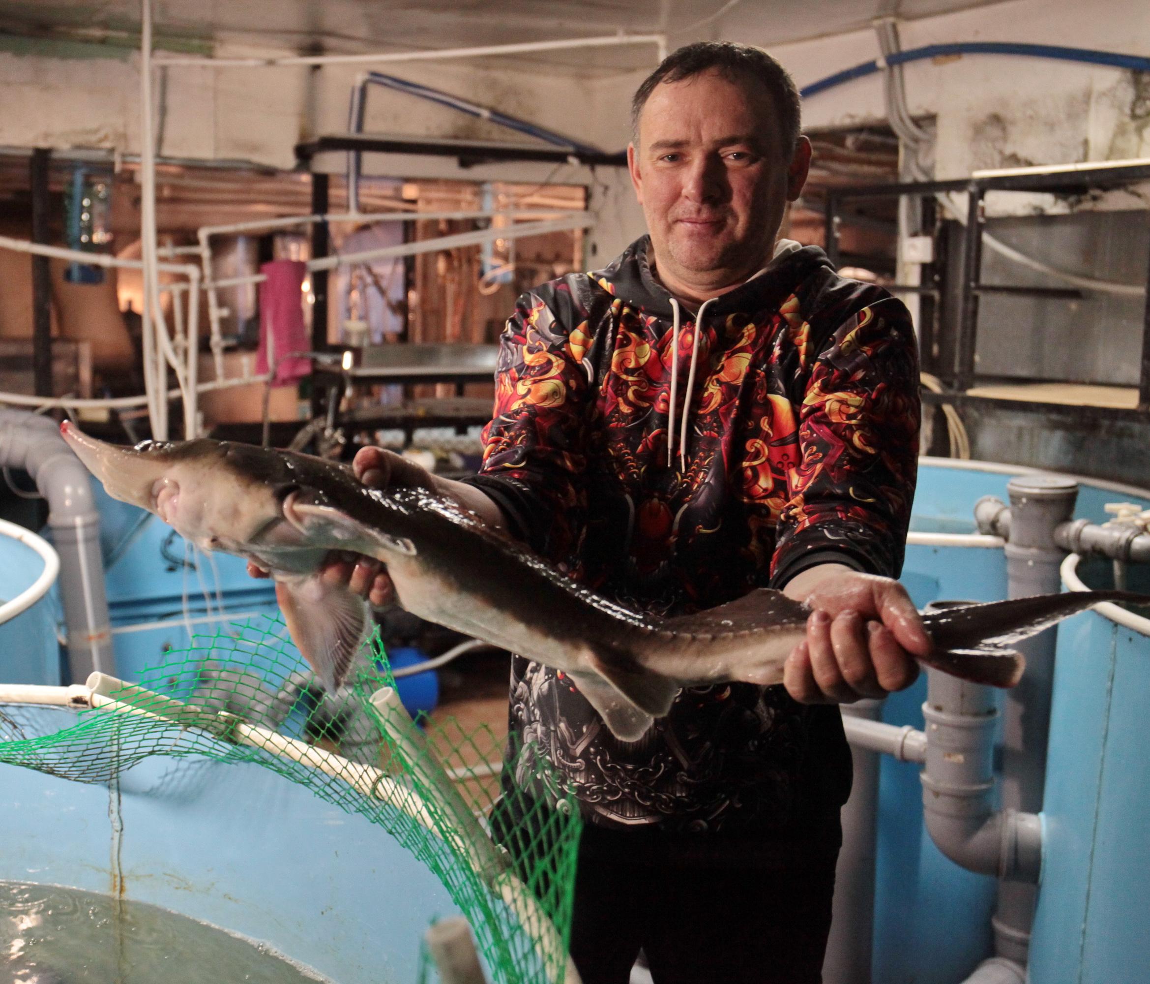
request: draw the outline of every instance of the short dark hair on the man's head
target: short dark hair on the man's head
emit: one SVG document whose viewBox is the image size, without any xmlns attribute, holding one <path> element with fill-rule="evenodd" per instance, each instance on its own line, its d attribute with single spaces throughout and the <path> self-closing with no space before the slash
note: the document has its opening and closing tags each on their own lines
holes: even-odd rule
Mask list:
<svg viewBox="0 0 1150 984">
<path fill-rule="evenodd" d="M 631 100 L 631 131 L 636 143 L 639 134 L 639 114 L 654 92 L 654 87 L 662 82 L 681 82 L 705 71 L 718 71 L 728 82 L 756 79 L 761 83 L 775 104 L 784 152 L 790 157 L 798 143 L 802 125 L 800 100 L 795 79 L 777 59 L 768 55 L 762 48 L 736 45 L 734 41 L 696 41 L 693 45 L 685 45 L 672 52 L 659 63 L 659 67 L 643 81 Z"/>
</svg>

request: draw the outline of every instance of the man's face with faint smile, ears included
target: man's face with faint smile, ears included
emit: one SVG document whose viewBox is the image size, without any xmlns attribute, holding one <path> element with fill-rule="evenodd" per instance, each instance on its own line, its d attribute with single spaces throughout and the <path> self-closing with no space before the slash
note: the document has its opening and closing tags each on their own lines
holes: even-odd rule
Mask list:
<svg viewBox="0 0 1150 984">
<path fill-rule="evenodd" d="M 769 93 L 716 71 L 656 86 L 643 107 L 631 181 L 668 284 L 726 287 L 770 258 L 810 143 L 782 146 Z"/>
</svg>

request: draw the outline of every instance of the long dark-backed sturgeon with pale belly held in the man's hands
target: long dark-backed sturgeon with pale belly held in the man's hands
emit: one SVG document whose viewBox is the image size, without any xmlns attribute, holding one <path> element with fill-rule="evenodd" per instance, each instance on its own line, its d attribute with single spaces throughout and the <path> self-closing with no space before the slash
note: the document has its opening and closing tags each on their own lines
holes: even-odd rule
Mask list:
<svg viewBox="0 0 1150 984">
<path fill-rule="evenodd" d="M 379 490 L 351 468 L 291 451 L 199 438 L 123 448 L 72 425 L 62 434 L 114 498 L 155 513 L 204 550 L 271 572 L 288 630 L 329 689 L 371 625 L 346 585 L 319 577 L 332 550 L 382 560 L 400 604 L 429 621 L 562 670 L 623 740 L 667 714 L 683 687 L 782 682 L 810 610 L 767 588 L 677 618 L 632 611 L 588 590 L 509 536 L 427 489 Z M 1012 687 L 1010 647 L 1125 592 L 1040 595 L 922 617 L 928 666 Z"/>
</svg>

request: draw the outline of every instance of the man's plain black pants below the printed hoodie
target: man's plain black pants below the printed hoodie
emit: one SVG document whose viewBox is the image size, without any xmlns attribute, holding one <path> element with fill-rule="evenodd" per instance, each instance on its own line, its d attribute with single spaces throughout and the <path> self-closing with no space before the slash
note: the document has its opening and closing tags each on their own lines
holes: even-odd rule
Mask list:
<svg viewBox="0 0 1150 984">
<path fill-rule="evenodd" d="M 770 857 L 744 839 L 589 824 L 570 947 L 583 984 L 627 984 L 641 947 L 654 984 L 820 984 L 839 840 L 837 817 Z"/>
</svg>

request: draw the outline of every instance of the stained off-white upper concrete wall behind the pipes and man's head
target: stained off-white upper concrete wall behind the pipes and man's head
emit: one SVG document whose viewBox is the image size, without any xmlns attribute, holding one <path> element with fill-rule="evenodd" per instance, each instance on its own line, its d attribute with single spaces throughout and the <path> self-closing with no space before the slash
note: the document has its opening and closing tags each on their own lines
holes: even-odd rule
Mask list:
<svg viewBox="0 0 1150 984">
<path fill-rule="evenodd" d="M 770 48 L 799 85 L 877 54 L 872 31 L 772 45 L 774 5 L 744 3 L 715 28 L 719 35 Z M 1017 40 L 1134 51 L 1150 36 L 1144 0 L 1010 0 L 971 10 L 906 22 L 904 47 L 938 41 Z M 673 43 L 688 38 L 675 37 Z M 138 59 L 122 52 L 41 43 L 13 44 L 0 53 L 0 144 L 9 146 L 139 150 Z M 218 54 L 268 54 L 235 46 Z M 643 67 L 634 73 L 589 75 L 549 71 L 538 62 L 522 69 L 491 62 L 407 63 L 388 70 L 569 134 L 604 148 L 628 137 L 628 102 L 653 62 L 636 48 Z M 67 56 L 64 56 L 67 55 Z M 77 56 L 84 55 L 84 56 Z M 162 152 L 171 157 L 243 159 L 274 167 L 294 163 L 292 146 L 309 135 L 346 129 L 348 94 L 360 67 L 320 71 L 284 69 L 169 69 Z M 1109 68 L 1033 59 L 972 55 L 906 68 L 912 112 L 937 120 L 937 176 L 959 177 L 974 168 L 1059 163 L 1150 155 L 1150 79 Z M 810 129 L 881 121 L 877 75 L 813 97 L 805 107 Z M 515 139 L 478 120 L 398 93 L 377 91 L 369 100 L 368 129 L 447 137 Z M 336 157 L 321 162 L 340 170 Z M 415 158 L 373 160 L 368 169 L 401 177 L 460 176 L 448 161 Z M 593 190 L 604 228 L 589 261 L 612 255 L 642 231 L 622 174 L 592 176 L 585 169 L 550 166 L 475 168 L 468 177 L 578 181 Z M 1141 207 L 1126 200 L 1124 207 Z M 1033 211 L 1033 203 L 1027 206 Z M 1043 206 L 1044 207 L 1044 206 Z"/>
</svg>

